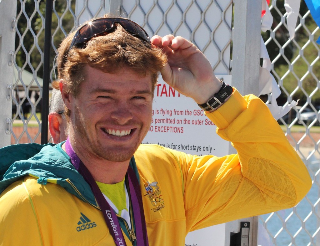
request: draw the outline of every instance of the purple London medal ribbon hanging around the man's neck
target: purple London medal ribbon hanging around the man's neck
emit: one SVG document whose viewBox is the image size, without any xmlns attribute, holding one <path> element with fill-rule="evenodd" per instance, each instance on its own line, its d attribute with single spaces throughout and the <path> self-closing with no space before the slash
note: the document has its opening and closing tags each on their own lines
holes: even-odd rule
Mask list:
<svg viewBox="0 0 320 246">
<path fill-rule="evenodd" d="M 103 194 L 100 191 L 99 186 L 95 182 L 89 170 L 79 159 L 76 152 L 74 152 L 69 138 L 66 141 L 66 152 L 69 155 L 73 166 L 76 170 L 84 177 L 84 180 L 90 185 L 94 197 L 98 201 L 100 209 L 102 211 L 103 217 L 108 225 L 110 234 L 113 237 L 117 246 L 126 246 L 123 233 L 121 231 L 121 226 L 116 216 L 116 212 L 110 207 L 108 201 L 104 198 Z M 131 166 L 128 167 L 127 177 L 129 183 L 129 195 L 131 197 L 131 204 L 133 210 L 134 224 L 135 224 L 135 235 L 137 239 L 138 246 L 148 246 L 148 235 L 147 235 L 147 226 L 144 217 L 143 204 L 141 198 L 141 191 L 139 181 L 135 175 Z M 134 228 L 132 228 L 133 230 Z"/>
</svg>

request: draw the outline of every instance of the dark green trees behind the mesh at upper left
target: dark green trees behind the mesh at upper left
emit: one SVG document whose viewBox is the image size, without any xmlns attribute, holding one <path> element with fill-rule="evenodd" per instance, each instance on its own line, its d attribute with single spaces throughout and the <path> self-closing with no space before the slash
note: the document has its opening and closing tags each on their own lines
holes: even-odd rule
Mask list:
<svg viewBox="0 0 320 246">
<path fill-rule="evenodd" d="M 53 44 L 50 54 L 50 64 L 53 67 L 55 57 L 55 49 L 59 47 L 61 40 L 68 34 L 74 26 L 75 3 L 73 2 L 69 8 L 69 1 L 54 1 L 54 12 L 52 14 L 52 30 Z M 17 5 L 17 36 L 16 36 L 16 63 L 19 67 L 26 65 L 26 70 L 33 72 L 36 76 L 43 77 L 43 66 L 41 56 L 44 50 L 44 18 L 45 18 L 45 0 L 35 2 L 26 0 Z M 38 7 L 38 8 L 37 8 Z M 71 11 L 71 12 L 70 12 Z M 62 23 L 62 26 L 58 25 Z"/>
</svg>

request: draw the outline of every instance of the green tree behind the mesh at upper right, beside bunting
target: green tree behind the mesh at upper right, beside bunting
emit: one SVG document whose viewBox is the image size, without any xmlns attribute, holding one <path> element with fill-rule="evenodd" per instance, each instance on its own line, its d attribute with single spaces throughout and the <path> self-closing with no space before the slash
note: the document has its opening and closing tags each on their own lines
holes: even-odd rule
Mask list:
<svg viewBox="0 0 320 246">
<path fill-rule="evenodd" d="M 280 13 L 273 8 L 271 10 L 274 17 L 272 29 L 278 26 L 281 22 L 281 16 L 285 13 L 284 0 L 277 0 L 276 7 Z M 303 17 L 308 11 L 304 1 L 301 1 L 300 14 Z M 299 21 L 299 20 L 298 20 Z M 300 22 L 300 21 L 299 21 Z M 299 23 L 298 22 L 298 23 Z M 272 40 L 267 44 L 267 50 L 271 61 L 274 63 L 273 75 L 280 83 L 282 94 L 277 99 L 279 105 L 283 105 L 287 100 L 300 100 L 300 105 L 307 101 L 307 96 L 312 95 L 312 103 L 320 103 L 320 93 L 317 88 L 317 83 L 320 78 L 320 64 L 316 62 L 318 59 L 319 47 L 309 42 L 310 31 L 316 29 L 316 23 L 311 15 L 304 19 L 304 24 L 299 25 L 299 29 L 295 34 L 295 41 L 290 42 L 284 49 L 282 46 L 288 41 L 289 34 L 284 25 L 277 29 L 275 33 L 276 41 Z M 302 23 L 303 23 L 302 22 Z M 262 33 L 264 40 L 268 40 L 270 32 Z M 320 36 L 320 31 L 315 33 L 315 38 Z M 278 43 L 278 44 L 277 44 Z M 283 50 L 281 50 L 283 49 Z M 283 52 L 282 56 L 279 53 Z M 312 66 L 312 72 L 308 71 L 308 66 Z M 290 66 L 292 65 L 292 70 Z M 289 99 L 288 99 L 289 98 Z"/>
</svg>

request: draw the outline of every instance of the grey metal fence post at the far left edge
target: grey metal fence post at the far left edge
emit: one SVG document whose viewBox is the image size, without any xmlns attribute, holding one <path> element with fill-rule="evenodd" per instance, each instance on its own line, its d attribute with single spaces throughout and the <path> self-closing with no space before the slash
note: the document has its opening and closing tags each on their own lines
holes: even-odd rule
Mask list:
<svg viewBox="0 0 320 246">
<path fill-rule="evenodd" d="M 0 1 L 0 147 L 11 142 L 12 83 L 17 1 Z"/>
</svg>

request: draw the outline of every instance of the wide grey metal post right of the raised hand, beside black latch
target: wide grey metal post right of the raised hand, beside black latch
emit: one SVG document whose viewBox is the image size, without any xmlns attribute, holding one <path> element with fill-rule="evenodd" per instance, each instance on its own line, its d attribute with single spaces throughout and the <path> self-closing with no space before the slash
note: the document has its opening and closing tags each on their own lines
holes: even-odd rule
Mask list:
<svg viewBox="0 0 320 246">
<path fill-rule="evenodd" d="M 234 0 L 234 26 L 232 47 L 232 86 L 245 94 L 258 95 L 260 66 L 261 1 Z M 229 152 L 234 149 L 230 145 Z M 240 221 L 250 222 L 249 245 L 258 241 L 258 217 L 238 220 L 226 224 L 226 245 L 230 241 L 228 232 L 238 231 Z M 235 228 L 236 227 L 236 228 Z M 228 238 L 227 238 L 228 237 Z"/>
</svg>

